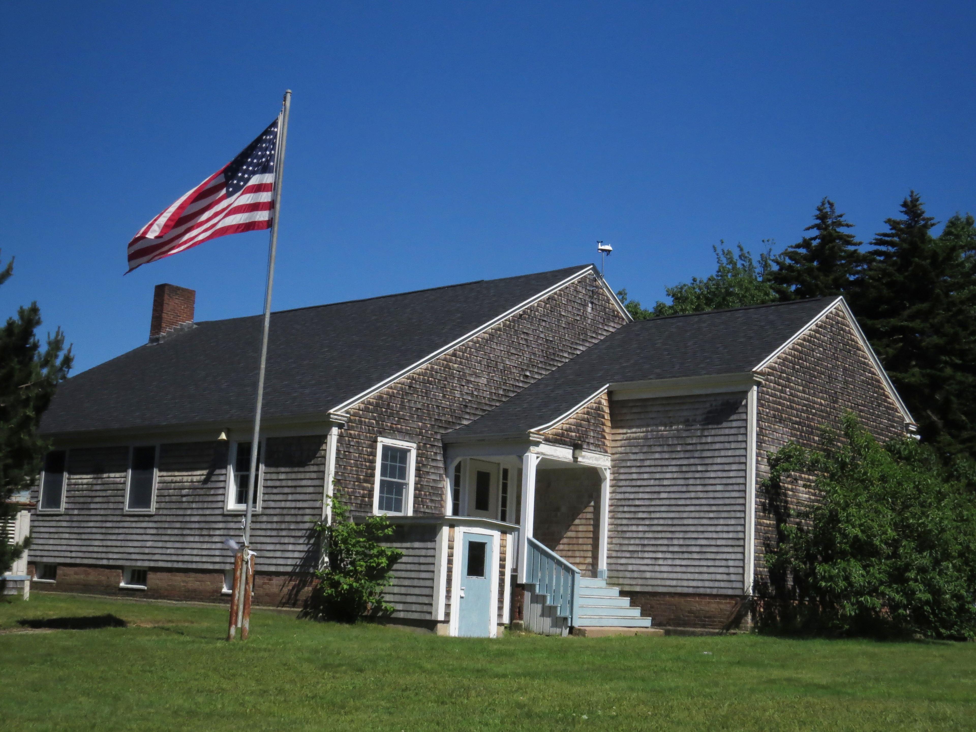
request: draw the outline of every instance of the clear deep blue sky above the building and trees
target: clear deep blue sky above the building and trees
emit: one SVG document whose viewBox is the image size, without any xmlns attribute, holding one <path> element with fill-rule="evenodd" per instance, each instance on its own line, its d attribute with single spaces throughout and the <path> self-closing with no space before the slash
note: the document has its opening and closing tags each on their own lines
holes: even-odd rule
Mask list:
<svg viewBox="0 0 976 732">
<path fill-rule="evenodd" d="M 21 3 L 0 27 L 16 256 L 75 373 L 145 342 L 152 288 L 259 312 L 267 233 L 122 276 L 143 224 L 294 90 L 274 307 L 595 262 L 645 304 L 712 245 L 870 238 L 910 188 L 976 212 L 973 3 Z"/>
</svg>

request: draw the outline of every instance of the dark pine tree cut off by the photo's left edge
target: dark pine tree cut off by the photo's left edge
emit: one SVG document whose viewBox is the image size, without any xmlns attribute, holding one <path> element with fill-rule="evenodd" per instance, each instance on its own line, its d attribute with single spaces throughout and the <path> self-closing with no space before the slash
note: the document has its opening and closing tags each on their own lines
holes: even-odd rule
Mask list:
<svg viewBox="0 0 976 732">
<path fill-rule="evenodd" d="M 0 269 L 0 285 L 14 272 L 11 260 Z M 64 349 L 61 329 L 42 349 L 36 330 L 41 325 L 37 303 L 18 309 L 0 328 L 0 524 L 17 510 L 8 503 L 37 480 L 48 443 L 37 434 L 41 415 L 55 388 L 71 368 L 71 348 Z M 7 542 L 0 532 L 0 574 L 17 561 L 24 545 Z"/>
</svg>

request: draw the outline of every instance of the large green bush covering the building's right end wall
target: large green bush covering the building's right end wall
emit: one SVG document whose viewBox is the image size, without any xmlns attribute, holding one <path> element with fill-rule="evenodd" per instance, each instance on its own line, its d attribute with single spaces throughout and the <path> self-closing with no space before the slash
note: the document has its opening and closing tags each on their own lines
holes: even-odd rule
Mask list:
<svg viewBox="0 0 976 732">
<path fill-rule="evenodd" d="M 851 635 L 976 637 L 973 494 L 915 440 L 878 444 L 852 414 L 819 450 L 794 443 L 770 458 L 779 508 L 767 547 L 760 621 Z M 787 482 L 819 500 L 785 508 Z"/>
</svg>

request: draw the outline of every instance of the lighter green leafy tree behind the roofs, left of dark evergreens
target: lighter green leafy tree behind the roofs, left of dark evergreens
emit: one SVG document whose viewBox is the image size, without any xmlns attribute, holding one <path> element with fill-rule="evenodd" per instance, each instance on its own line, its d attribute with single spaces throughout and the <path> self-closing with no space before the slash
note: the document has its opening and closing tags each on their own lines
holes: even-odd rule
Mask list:
<svg viewBox="0 0 976 732">
<path fill-rule="evenodd" d="M 705 279 L 692 277 L 691 282 L 666 287 L 671 305 L 658 301 L 652 314 L 679 315 L 775 302 L 777 296 L 767 278 L 772 264 L 769 253 L 759 255 L 759 264 L 756 264 L 745 247 L 738 246 L 738 256 L 731 249 L 712 247 L 718 264 L 715 273 Z"/>
</svg>

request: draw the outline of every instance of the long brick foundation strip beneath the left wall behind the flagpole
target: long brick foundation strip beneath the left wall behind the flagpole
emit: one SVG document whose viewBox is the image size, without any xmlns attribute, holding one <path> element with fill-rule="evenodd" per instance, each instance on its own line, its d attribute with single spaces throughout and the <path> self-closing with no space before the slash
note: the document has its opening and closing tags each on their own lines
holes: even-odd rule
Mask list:
<svg viewBox="0 0 976 732">
<path fill-rule="evenodd" d="M 34 577 L 33 564 L 27 574 Z M 172 570 L 149 567 L 145 590 L 120 588 L 121 567 L 98 567 L 84 564 L 59 564 L 58 580 L 36 582 L 34 590 L 42 592 L 85 592 L 145 599 L 195 600 L 229 602 L 224 594 L 224 573 L 212 570 Z M 299 607 L 311 590 L 309 578 L 296 575 L 263 574 L 254 578 L 254 604 L 273 607 Z"/>
</svg>

